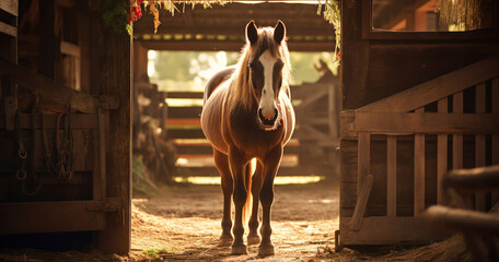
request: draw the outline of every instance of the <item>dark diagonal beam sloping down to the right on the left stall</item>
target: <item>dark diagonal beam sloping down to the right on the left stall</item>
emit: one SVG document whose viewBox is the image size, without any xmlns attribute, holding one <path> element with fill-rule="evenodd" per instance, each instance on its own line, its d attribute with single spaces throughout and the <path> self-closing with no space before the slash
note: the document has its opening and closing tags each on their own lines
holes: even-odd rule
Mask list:
<svg viewBox="0 0 499 262">
<path fill-rule="evenodd" d="M 88 114 L 95 114 L 98 100 L 88 94 L 71 90 L 54 82 L 54 80 L 37 74 L 21 66 L 1 60 L 0 70 L 10 74 L 23 88 L 39 94 L 56 103 L 69 104 L 76 110 Z"/>
</svg>

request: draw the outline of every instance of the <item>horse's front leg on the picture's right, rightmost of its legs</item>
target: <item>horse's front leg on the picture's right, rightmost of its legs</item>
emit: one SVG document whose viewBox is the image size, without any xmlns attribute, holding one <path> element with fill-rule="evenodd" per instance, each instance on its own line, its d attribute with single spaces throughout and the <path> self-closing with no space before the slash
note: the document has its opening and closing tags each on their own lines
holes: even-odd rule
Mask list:
<svg viewBox="0 0 499 262">
<path fill-rule="evenodd" d="M 272 228 L 270 227 L 270 207 L 274 202 L 274 178 L 282 158 L 282 147 L 277 146 L 267 155 L 264 160 L 264 183 L 260 190 L 260 202 L 263 207 L 263 222 L 260 227 L 262 242 L 258 248 L 258 255 L 267 257 L 274 254 L 274 245 L 270 240 Z"/>
</svg>

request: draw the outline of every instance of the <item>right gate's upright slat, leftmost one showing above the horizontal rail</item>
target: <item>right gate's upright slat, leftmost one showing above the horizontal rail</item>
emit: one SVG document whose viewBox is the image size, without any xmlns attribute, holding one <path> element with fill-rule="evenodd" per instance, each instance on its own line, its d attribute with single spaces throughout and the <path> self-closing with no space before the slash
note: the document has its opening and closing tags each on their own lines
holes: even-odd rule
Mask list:
<svg viewBox="0 0 499 262">
<path fill-rule="evenodd" d="M 425 108 L 415 114 L 425 114 Z M 425 211 L 425 134 L 414 136 L 414 216 Z"/>
</svg>

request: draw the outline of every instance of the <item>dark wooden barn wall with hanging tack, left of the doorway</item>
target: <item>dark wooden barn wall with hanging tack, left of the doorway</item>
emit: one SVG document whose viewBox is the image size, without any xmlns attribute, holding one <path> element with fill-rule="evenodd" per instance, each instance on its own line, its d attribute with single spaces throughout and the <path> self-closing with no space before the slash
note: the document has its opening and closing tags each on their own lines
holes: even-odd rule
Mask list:
<svg viewBox="0 0 499 262">
<path fill-rule="evenodd" d="M 2 23 L 8 22 L 3 5 Z M 7 96 L 20 105 L 0 110 L 2 247 L 40 248 L 50 239 L 53 247 L 77 248 L 70 243 L 78 242 L 121 254 L 130 249 L 131 37 L 105 28 L 96 2 L 83 7 L 55 0 L 39 9 L 23 4 L 21 66 L 15 56 L 0 61 L 1 76 L 18 85 L 2 88 L 1 107 L 8 108 Z M 12 44 L 5 39 L 0 33 L 0 53 Z M 15 46 L 10 53 L 18 53 Z M 69 131 L 63 128 L 68 119 Z M 48 171 L 42 145 L 45 136 L 47 158 L 56 158 L 56 133 L 66 131 L 74 144 L 73 174 L 58 178 Z M 20 134 L 27 151 L 26 179 L 15 176 L 22 166 Z"/>
</svg>

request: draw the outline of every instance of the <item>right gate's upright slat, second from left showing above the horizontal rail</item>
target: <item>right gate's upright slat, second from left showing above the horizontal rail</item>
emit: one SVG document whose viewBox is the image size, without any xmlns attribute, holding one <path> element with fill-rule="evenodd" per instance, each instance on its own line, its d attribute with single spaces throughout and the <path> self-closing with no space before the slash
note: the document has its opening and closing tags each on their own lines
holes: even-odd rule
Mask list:
<svg viewBox="0 0 499 262">
<path fill-rule="evenodd" d="M 449 98 L 438 102 L 438 112 L 448 112 Z M 437 136 L 437 203 L 443 204 L 442 180 L 448 171 L 448 134 Z"/>
</svg>

